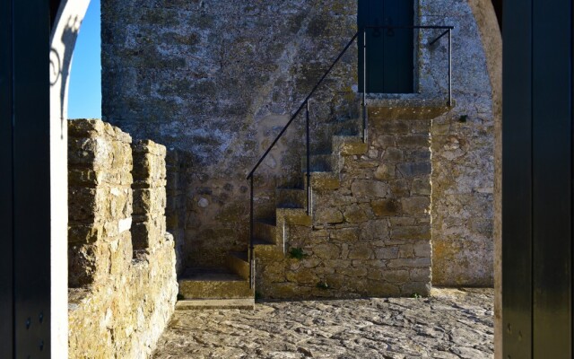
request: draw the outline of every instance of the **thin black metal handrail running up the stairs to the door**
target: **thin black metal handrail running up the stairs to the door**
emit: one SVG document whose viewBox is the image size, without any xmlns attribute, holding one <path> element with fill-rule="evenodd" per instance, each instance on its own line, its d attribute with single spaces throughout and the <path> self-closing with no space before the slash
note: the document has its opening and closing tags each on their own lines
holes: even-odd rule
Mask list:
<svg viewBox="0 0 574 359">
<path fill-rule="evenodd" d="M 420 29 L 420 30 L 446 30 L 444 32 L 442 32 L 439 37 L 437 37 L 436 39 L 433 39 L 430 43 L 429 46 L 432 46 L 434 43 L 436 43 L 439 39 L 441 39 L 443 36 L 445 36 L 446 34 L 448 34 L 448 106 L 452 106 L 452 30 L 454 29 L 454 26 L 432 26 L 432 25 L 415 25 L 415 26 L 391 26 L 391 25 L 382 25 L 382 26 L 365 26 L 362 28 L 362 32 L 363 32 L 363 92 L 362 92 L 362 103 L 361 103 L 361 107 L 362 107 L 362 140 L 363 142 L 367 142 L 367 99 L 366 99 L 366 93 L 367 93 L 367 29 Z M 285 126 L 283 127 L 283 129 L 281 130 L 281 132 L 279 133 L 279 135 L 277 135 L 274 139 L 274 141 L 269 145 L 269 147 L 267 148 L 267 150 L 265 151 L 265 153 L 263 153 L 263 155 L 259 158 L 259 161 L 257 161 L 256 165 L 253 167 L 253 169 L 249 172 L 247 180 L 249 180 L 249 189 L 250 189 L 250 200 L 249 200 L 249 250 L 248 250 L 248 261 L 249 261 L 249 285 L 251 288 L 253 288 L 254 284 L 255 284 L 255 261 L 254 261 L 254 243 L 253 243 L 253 235 L 254 235 L 254 208 L 253 208 L 253 176 L 255 171 L 257 171 L 257 168 L 259 168 L 259 165 L 261 164 L 261 162 L 263 162 L 263 160 L 265 160 L 265 157 L 267 156 L 267 154 L 269 154 L 269 152 L 271 152 L 271 150 L 273 149 L 274 145 L 277 144 L 277 142 L 279 141 L 279 139 L 283 136 L 283 134 L 285 133 L 285 131 L 287 130 L 288 127 L 291 126 L 291 122 L 293 122 L 293 120 L 295 118 L 297 118 L 297 116 L 299 116 L 300 111 L 302 109 L 305 109 L 305 121 L 306 121 L 306 152 L 307 152 L 307 214 L 310 215 L 310 146 L 309 146 L 309 100 L 311 98 L 311 96 L 313 96 L 313 94 L 317 91 L 317 88 L 319 87 L 319 85 L 321 83 L 323 83 L 323 80 L 325 80 L 326 76 L 328 74 L 331 73 L 331 70 L 333 70 L 333 67 L 335 67 L 335 65 L 339 62 L 339 60 L 341 59 L 341 57 L 344 56 L 345 52 L 347 52 L 347 50 L 351 47 L 352 43 L 354 42 L 355 39 L 357 39 L 357 37 L 359 36 L 359 34 L 361 33 L 361 31 L 357 31 L 355 32 L 355 34 L 352 36 L 352 39 L 349 40 L 349 42 L 345 45 L 344 49 L 339 53 L 339 55 L 335 58 L 335 61 L 333 61 L 333 63 L 331 64 L 331 66 L 329 66 L 329 68 L 326 70 L 325 74 L 323 74 L 323 76 L 321 76 L 321 78 L 319 79 L 319 81 L 317 82 L 317 84 L 315 84 L 315 86 L 313 87 L 313 89 L 311 90 L 311 92 L 309 92 L 309 95 L 307 95 L 307 97 L 305 98 L 305 100 L 303 102 L 301 102 L 300 107 L 295 111 L 295 113 L 293 113 L 293 115 L 291 116 L 291 118 L 289 119 L 289 121 L 287 122 L 287 124 L 285 124 Z"/>
</svg>

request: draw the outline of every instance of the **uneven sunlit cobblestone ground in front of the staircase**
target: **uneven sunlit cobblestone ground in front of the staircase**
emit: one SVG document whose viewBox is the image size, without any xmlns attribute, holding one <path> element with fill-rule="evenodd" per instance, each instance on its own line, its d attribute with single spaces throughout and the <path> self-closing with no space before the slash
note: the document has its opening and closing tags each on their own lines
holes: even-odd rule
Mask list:
<svg viewBox="0 0 574 359">
<path fill-rule="evenodd" d="M 491 289 L 176 311 L 155 358 L 491 358 Z"/>
</svg>

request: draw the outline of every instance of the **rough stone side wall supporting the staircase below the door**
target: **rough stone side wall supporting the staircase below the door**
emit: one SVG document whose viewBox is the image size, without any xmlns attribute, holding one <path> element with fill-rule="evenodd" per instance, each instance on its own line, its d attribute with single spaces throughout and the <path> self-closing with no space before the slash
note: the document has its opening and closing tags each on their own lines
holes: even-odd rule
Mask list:
<svg viewBox="0 0 574 359">
<path fill-rule="evenodd" d="M 428 295 L 431 118 L 412 116 L 370 108 L 369 147 L 338 149 L 339 186 L 314 188 L 312 228 L 288 226 L 291 256 L 256 252 L 257 291 L 283 299 Z"/>
</svg>

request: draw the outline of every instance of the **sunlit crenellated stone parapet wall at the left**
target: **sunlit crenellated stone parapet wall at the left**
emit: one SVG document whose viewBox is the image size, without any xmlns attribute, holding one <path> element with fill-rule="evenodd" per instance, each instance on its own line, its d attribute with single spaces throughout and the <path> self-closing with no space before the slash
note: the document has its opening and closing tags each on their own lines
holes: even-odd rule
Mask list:
<svg viewBox="0 0 574 359">
<path fill-rule="evenodd" d="M 178 293 L 163 216 L 165 147 L 138 142 L 132 156 L 117 127 L 93 119 L 68 127 L 69 356 L 147 357 Z"/>
</svg>

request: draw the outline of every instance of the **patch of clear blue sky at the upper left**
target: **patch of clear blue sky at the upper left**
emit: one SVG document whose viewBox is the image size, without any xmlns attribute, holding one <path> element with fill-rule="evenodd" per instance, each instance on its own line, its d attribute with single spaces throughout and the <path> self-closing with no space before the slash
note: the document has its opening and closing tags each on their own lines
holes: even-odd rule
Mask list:
<svg viewBox="0 0 574 359">
<path fill-rule="evenodd" d="M 75 43 L 68 118 L 101 118 L 100 0 L 91 0 Z"/>
</svg>

